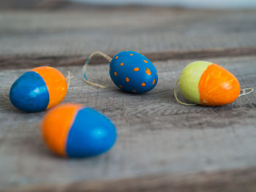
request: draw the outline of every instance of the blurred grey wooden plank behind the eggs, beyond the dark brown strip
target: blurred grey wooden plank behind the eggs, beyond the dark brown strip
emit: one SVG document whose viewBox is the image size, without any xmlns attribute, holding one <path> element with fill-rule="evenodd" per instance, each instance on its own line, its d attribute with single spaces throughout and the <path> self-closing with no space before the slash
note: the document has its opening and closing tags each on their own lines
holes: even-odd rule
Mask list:
<svg viewBox="0 0 256 192">
<path fill-rule="evenodd" d="M 0 55 L 88 55 L 255 47 L 255 10 L 128 7 L 1 11 Z"/>
</svg>

